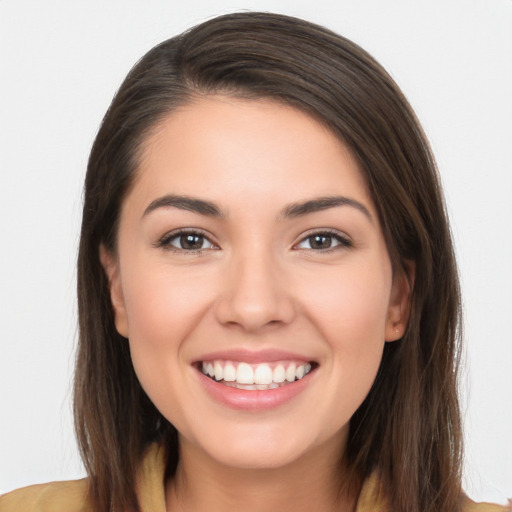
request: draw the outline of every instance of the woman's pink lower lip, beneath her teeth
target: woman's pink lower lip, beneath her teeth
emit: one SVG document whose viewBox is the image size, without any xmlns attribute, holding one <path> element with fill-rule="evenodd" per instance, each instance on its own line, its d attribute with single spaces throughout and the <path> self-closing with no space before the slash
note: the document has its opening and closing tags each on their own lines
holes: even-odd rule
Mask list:
<svg viewBox="0 0 512 512">
<path fill-rule="evenodd" d="M 293 400 L 306 389 L 315 371 L 290 384 L 267 390 L 232 388 L 210 379 L 200 371 L 197 373 L 201 384 L 217 402 L 234 409 L 262 411 L 279 407 Z"/>
</svg>

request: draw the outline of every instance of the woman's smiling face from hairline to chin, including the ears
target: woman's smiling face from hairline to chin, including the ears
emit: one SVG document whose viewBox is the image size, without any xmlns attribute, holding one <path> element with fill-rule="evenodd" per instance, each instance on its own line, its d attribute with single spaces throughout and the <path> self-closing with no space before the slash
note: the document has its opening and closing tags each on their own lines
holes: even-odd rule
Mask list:
<svg viewBox="0 0 512 512">
<path fill-rule="evenodd" d="M 170 114 L 101 257 L 143 388 L 182 449 L 229 466 L 338 453 L 403 334 L 406 281 L 356 160 L 272 101 Z"/>
</svg>

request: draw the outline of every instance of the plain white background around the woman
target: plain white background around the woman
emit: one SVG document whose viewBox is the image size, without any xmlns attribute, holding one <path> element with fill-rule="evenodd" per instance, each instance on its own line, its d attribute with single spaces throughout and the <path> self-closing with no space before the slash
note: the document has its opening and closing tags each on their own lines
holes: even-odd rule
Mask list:
<svg viewBox="0 0 512 512">
<path fill-rule="evenodd" d="M 0 0 L 0 492 L 83 475 L 74 266 L 87 156 L 112 95 L 153 45 L 241 9 L 348 36 L 416 109 L 465 298 L 465 485 L 512 496 L 511 0 Z"/>
</svg>

